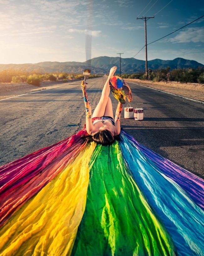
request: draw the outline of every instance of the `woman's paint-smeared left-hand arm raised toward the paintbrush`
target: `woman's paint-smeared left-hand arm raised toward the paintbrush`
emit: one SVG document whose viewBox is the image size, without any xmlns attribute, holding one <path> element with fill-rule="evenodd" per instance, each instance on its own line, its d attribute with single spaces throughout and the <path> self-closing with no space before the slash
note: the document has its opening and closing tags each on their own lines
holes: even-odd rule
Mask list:
<svg viewBox="0 0 204 256">
<path fill-rule="evenodd" d="M 84 100 L 84 105 L 86 108 L 86 131 L 88 134 L 91 134 L 94 126 L 92 124 L 92 112 L 91 112 L 91 105 L 86 93 L 86 82 L 82 81 L 81 82 L 81 89 L 83 92 L 83 100 Z"/>
</svg>

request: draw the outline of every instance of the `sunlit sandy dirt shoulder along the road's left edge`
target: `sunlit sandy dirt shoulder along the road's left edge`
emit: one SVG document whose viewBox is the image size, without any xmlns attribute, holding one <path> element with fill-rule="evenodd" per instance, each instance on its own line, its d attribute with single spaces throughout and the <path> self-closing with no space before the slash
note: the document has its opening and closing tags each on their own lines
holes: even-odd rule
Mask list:
<svg viewBox="0 0 204 256">
<path fill-rule="evenodd" d="M 79 80 L 64 81 L 43 81 L 39 86 L 31 85 L 26 82 L 21 83 L 0 83 L 0 99 L 26 94 L 34 91 L 53 88 L 59 85 L 77 82 Z"/>
</svg>

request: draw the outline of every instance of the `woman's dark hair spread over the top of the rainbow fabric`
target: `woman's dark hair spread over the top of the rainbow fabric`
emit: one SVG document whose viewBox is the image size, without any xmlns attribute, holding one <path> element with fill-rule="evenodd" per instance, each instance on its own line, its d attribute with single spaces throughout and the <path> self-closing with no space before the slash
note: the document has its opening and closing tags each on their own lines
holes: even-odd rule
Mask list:
<svg viewBox="0 0 204 256">
<path fill-rule="evenodd" d="M 115 140 L 121 140 L 120 135 L 113 136 L 109 130 L 102 130 L 92 135 L 81 135 L 82 139 L 91 142 L 95 141 L 97 144 L 111 145 Z"/>
</svg>

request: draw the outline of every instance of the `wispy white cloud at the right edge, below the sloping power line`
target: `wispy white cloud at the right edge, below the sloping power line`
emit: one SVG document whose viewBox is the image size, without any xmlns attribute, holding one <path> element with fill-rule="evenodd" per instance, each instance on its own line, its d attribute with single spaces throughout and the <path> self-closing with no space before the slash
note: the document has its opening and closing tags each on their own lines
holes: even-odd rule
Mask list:
<svg viewBox="0 0 204 256">
<path fill-rule="evenodd" d="M 168 41 L 172 43 L 204 43 L 204 27 L 187 28 L 185 31 L 180 31 L 177 36 L 170 38 Z"/>
</svg>

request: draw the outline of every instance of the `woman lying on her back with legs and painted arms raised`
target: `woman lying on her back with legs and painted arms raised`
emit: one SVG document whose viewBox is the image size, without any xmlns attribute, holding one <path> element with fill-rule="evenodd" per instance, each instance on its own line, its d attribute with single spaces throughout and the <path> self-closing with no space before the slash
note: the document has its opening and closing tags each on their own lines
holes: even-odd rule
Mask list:
<svg viewBox="0 0 204 256">
<path fill-rule="evenodd" d="M 113 119 L 112 102 L 109 97 L 110 94 L 110 79 L 113 77 L 117 67 L 110 69 L 107 81 L 105 82 L 102 94 L 98 105 L 96 106 L 93 116 L 91 112 L 91 105 L 86 93 L 86 83 L 82 81 L 81 88 L 83 91 L 83 99 L 86 108 L 86 130 L 89 136 L 83 135 L 82 138 L 95 141 L 102 145 L 111 145 L 115 140 L 120 140 L 121 132 L 121 111 L 122 103 L 118 102 L 115 112 L 115 120 Z M 124 82 L 124 81 L 123 81 Z M 129 86 L 128 86 L 129 88 Z M 130 91 L 130 88 L 129 88 Z M 130 91 L 131 92 L 131 91 Z M 131 93 L 129 93 L 131 94 Z M 123 97 L 123 95 L 120 95 Z M 127 96 L 128 97 L 128 96 Z M 132 94 L 131 94 L 132 97 Z"/>
</svg>

